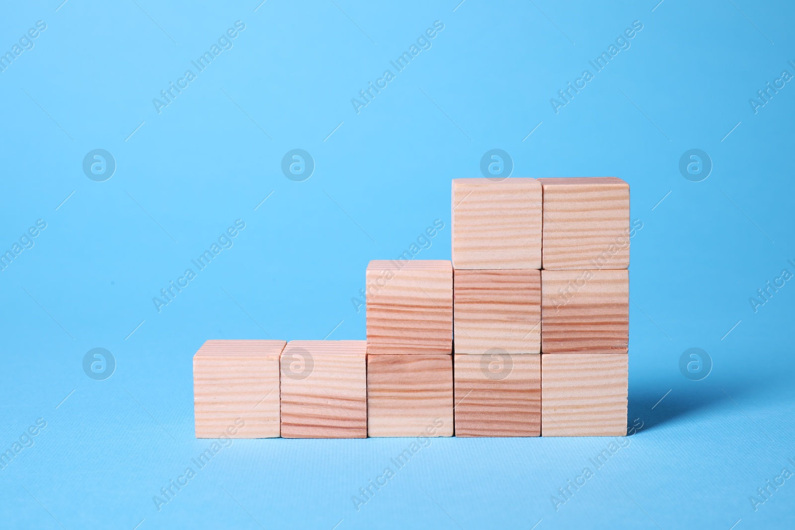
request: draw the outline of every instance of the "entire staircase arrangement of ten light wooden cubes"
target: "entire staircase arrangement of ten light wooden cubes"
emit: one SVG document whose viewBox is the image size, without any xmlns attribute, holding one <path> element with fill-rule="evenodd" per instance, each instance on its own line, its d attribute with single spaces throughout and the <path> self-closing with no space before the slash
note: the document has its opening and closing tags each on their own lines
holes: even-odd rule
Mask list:
<svg viewBox="0 0 795 530">
<path fill-rule="evenodd" d="M 626 435 L 629 186 L 452 181 L 452 262 L 370 261 L 366 341 L 207 341 L 196 437 Z"/>
</svg>

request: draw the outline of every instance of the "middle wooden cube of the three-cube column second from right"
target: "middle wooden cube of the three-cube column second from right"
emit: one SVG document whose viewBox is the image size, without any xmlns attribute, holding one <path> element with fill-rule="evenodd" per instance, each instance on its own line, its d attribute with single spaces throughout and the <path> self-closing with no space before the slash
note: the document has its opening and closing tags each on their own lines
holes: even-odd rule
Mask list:
<svg viewBox="0 0 795 530">
<path fill-rule="evenodd" d="M 456 354 L 541 353 L 541 271 L 453 271 Z"/>
</svg>

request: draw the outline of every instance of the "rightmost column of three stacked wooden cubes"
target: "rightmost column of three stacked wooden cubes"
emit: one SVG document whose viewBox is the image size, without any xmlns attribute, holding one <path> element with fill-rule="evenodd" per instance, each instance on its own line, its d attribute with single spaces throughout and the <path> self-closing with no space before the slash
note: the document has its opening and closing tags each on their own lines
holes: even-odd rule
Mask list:
<svg viewBox="0 0 795 530">
<path fill-rule="evenodd" d="M 539 179 L 541 434 L 626 435 L 630 187 Z"/>
</svg>

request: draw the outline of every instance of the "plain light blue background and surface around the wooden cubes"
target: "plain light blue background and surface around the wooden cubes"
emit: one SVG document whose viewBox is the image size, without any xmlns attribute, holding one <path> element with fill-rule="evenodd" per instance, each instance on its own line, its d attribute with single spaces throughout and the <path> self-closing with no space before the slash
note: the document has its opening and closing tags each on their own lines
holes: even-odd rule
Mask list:
<svg viewBox="0 0 795 530">
<path fill-rule="evenodd" d="M 795 75 L 789 2 L 60 1 L 0 17 L 0 51 L 46 24 L 0 72 L 0 247 L 46 222 L 0 272 L 0 444 L 33 443 L 0 470 L 2 528 L 793 527 L 795 478 L 749 499 L 795 472 L 795 284 L 749 301 L 795 273 L 795 84 L 749 103 Z M 235 21 L 231 48 L 158 113 Z M 357 114 L 351 99 L 434 21 L 431 47 Z M 556 114 L 550 99 L 634 21 Z M 114 157 L 110 180 L 83 172 L 93 149 Z M 308 180 L 281 172 L 290 149 L 311 153 Z M 357 511 L 409 440 L 237 440 L 158 511 L 210 443 L 193 432 L 202 342 L 364 339 L 351 298 L 367 261 L 435 219 L 417 259 L 448 259 L 450 180 L 480 176 L 489 149 L 514 176 L 630 183 L 628 446 L 555 509 L 610 439 L 433 439 Z M 711 158 L 706 180 L 680 173 L 688 149 Z M 236 219 L 233 246 L 158 312 Z M 104 381 L 83 372 L 96 347 L 117 363 Z M 702 381 L 680 372 L 690 347 L 712 358 Z"/>
</svg>

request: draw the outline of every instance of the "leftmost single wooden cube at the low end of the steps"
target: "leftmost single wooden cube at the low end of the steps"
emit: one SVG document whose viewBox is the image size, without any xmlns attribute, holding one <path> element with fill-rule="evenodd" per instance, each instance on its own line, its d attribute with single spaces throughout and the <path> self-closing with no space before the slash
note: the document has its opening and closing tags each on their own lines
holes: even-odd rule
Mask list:
<svg viewBox="0 0 795 530">
<path fill-rule="evenodd" d="M 276 438 L 283 340 L 208 340 L 193 356 L 196 438 Z M 234 433 L 234 434 L 233 434 Z"/>
</svg>

